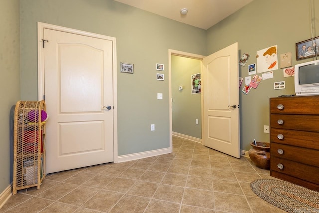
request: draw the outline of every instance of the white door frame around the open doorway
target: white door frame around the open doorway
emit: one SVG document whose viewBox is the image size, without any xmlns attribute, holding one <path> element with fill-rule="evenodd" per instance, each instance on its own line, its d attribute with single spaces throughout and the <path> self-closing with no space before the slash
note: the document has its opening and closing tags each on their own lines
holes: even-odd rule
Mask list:
<svg viewBox="0 0 319 213">
<path fill-rule="evenodd" d="M 170 135 L 170 147 L 171 150 L 173 149 L 173 112 L 172 112 L 172 86 L 171 86 L 171 56 L 176 55 L 180 57 L 185 57 L 185 58 L 192 58 L 192 59 L 198 59 L 200 60 L 200 74 L 202 76 L 203 74 L 203 58 L 206 56 L 203 55 L 197 55 L 189 52 L 182 52 L 178 50 L 173 50 L 173 49 L 168 49 L 168 65 L 169 65 L 169 70 L 168 70 L 168 85 L 169 85 L 169 135 Z M 203 128 L 203 94 L 201 93 L 200 96 L 201 99 L 201 138 L 202 138 L 202 144 L 203 143 L 203 135 L 204 135 L 204 128 Z"/>
</svg>

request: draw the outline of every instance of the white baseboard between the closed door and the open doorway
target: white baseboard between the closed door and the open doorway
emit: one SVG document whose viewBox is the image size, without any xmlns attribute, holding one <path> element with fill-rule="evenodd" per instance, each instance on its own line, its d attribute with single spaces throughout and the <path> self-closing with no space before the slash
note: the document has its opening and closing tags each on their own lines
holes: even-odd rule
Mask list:
<svg viewBox="0 0 319 213">
<path fill-rule="evenodd" d="M 168 154 L 168 153 L 172 153 L 172 152 L 173 152 L 172 149 L 170 147 L 168 147 L 168 148 L 163 148 L 163 149 L 158 149 L 158 150 L 151 150 L 151 151 L 146 151 L 146 152 L 121 155 L 121 156 L 118 156 L 118 162 L 121 163 L 121 162 L 126 162 L 126 161 L 138 160 L 138 159 L 142 159 L 142 158 L 149 158 L 149 157 L 164 155 L 164 154 Z"/>
</svg>

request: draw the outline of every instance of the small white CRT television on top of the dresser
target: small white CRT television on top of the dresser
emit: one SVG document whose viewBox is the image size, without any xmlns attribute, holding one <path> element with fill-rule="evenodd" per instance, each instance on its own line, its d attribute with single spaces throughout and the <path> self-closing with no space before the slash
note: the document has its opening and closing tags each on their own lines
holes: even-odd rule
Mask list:
<svg viewBox="0 0 319 213">
<path fill-rule="evenodd" d="M 295 93 L 319 95 L 319 60 L 295 65 Z"/>
</svg>

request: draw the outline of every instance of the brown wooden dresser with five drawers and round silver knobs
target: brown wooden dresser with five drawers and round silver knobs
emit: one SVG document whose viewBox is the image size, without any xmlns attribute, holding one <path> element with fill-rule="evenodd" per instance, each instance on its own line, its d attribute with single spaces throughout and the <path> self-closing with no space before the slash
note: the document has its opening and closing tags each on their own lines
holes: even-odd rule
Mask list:
<svg viewBox="0 0 319 213">
<path fill-rule="evenodd" d="M 319 191 L 319 96 L 270 98 L 270 175 Z"/>
</svg>

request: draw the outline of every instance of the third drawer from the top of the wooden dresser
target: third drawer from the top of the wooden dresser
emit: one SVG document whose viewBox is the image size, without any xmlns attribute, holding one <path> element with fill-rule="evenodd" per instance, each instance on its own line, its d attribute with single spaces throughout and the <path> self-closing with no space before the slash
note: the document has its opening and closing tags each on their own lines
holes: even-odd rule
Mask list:
<svg viewBox="0 0 319 213">
<path fill-rule="evenodd" d="M 319 151 L 319 132 L 271 128 L 270 141 Z"/>
</svg>

